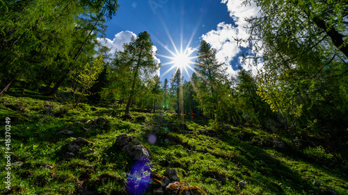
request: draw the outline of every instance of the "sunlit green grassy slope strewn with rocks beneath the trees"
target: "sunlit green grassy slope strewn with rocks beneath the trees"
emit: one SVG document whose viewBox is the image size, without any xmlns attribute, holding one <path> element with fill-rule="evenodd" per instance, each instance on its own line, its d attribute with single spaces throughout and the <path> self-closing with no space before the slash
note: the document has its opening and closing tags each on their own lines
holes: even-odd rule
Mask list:
<svg viewBox="0 0 348 195">
<path fill-rule="evenodd" d="M 133 111 L 134 117 L 145 115 L 145 121 L 121 121 L 117 117 L 122 115 L 123 108 L 111 110 L 111 105 L 81 104 L 80 108 L 69 110 L 69 105 L 59 100 L 31 92 L 0 97 L 3 126 L 5 117 L 11 119 L 11 162 L 24 163 L 21 167 L 11 167 L 10 193 L 75 194 L 84 181 L 85 184 L 89 181 L 90 191 L 123 194 L 125 173 L 133 162 L 127 153 L 114 150 L 112 145 L 118 135 L 127 133 L 150 149 L 156 173 L 164 173 L 166 167 L 175 168 L 181 181 L 197 185 L 207 194 L 325 194 L 325 189 L 348 194 L 344 173 L 347 161 L 339 159 L 338 154 L 308 146 L 294 153 L 284 135 L 270 135 L 254 128 L 215 126 L 199 119 L 185 120 L 187 128 L 183 128 L 176 125 L 180 121 L 170 112 Z M 103 130 L 102 126 L 92 130 L 92 124 L 76 123 L 98 117 L 108 119 L 111 130 Z M 90 131 L 82 130 L 81 126 Z M 171 132 L 166 133 L 166 128 Z M 60 135 L 61 130 L 74 133 Z M 148 143 L 150 134 L 157 135 L 155 144 Z M 88 153 L 90 147 L 86 146 L 77 157 L 65 161 L 66 144 L 72 137 L 93 142 L 96 153 Z M 287 149 L 274 148 L 272 141 L 280 137 Z M 1 152 L 5 151 L 4 146 L 1 141 Z M 334 158 L 338 162 L 333 162 Z M 4 163 L 3 158 L 1 178 L 6 176 Z M 244 189 L 238 187 L 241 180 L 248 184 Z M 313 180 L 319 182 L 319 187 L 313 185 Z M 0 193 L 6 192 L 3 182 L 0 187 Z"/>
</svg>

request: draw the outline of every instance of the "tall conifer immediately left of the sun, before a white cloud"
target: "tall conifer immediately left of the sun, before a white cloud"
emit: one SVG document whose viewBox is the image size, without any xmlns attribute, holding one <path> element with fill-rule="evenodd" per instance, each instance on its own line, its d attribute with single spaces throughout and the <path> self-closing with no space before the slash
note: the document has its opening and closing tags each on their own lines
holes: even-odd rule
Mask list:
<svg viewBox="0 0 348 195">
<path fill-rule="evenodd" d="M 143 83 L 150 80 L 160 65 L 153 58 L 150 34 L 139 33 L 131 42 L 123 45 L 124 51 L 116 51 L 112 62 L 109 87 L 104 90 L 104 96 L 118 91 L 127 96 L 125 115 L 130 115 L 129 108 L 134 96 L 141 91 Z M 122 91 L 118 90 L 122 88 Z"/>
</svg>

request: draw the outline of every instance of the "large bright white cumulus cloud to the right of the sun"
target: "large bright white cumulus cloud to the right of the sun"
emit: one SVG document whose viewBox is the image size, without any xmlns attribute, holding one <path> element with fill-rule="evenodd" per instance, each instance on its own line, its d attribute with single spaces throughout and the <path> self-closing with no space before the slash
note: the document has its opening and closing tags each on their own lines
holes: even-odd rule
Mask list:
<svg viewBox="0 0 348 195">
<path fill-rule="evenodd" d="M 202 38 L 216 49 L 216 58 L 219 62 L 225 62 L 228 74 L 236 75 L 237 71 L 232 69 L 230 65 L 231 60 L 241 51 L 235 39 L 246 40 L 249 37 L 248 28 L 246 28 L 249 24 L 245 19 L 260 16 L 260 8 L 253 1 L 247 6 L 242 6 L 242 0 L 222 0 L 221 3 L 226 3 L 230 17 L 235 20 L 235 26 L 221 22 L 217 25 L 216 30 L 209 31 L 202 35 Z M 246 42 L 239 44 L 244 47 L 248 46 Z M 239 63 L 242 62 L 240 59 Z M 251 69 L 255 73 L 261 65 L 257 67 L 242 65 L 242 67 L 246 70 Z"/>
</svg>

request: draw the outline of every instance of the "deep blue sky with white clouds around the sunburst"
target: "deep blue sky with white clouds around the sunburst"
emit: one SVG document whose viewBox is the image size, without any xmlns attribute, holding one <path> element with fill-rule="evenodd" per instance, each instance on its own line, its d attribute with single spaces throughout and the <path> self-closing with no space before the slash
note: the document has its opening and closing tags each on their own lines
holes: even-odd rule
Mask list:
<svg viewBox="0 0 348 195">
<path fill-rule="evenodd" d="M 204 39 L 218 51 L 217 58 L 220 62 L 225 62 L 229 68 L 228 72 L 235 74 L 241 50 L 238 49 L 234 37 L 245 37 L 247 34 L 241 31 L 244 23 L 240 18 L 257 14 L 255 6 L 243 8 L 240 6 L 241 2 L 239 0 L 119 0 L 120 8 L 116 16 L 106 23 L 109 27 L 104 43 L 113 49 L 120 49 L 124 42 L 129 42 L 132 35 L 148 31 L 157 48 L 156 58 L 163 65 L 159 74 L 161 80 L 164 80 L 164 78 L 170 79 L 175 71 L 172 69 L 164 75 L 173 66 L 166 65 L 171 60 L 164 57 L 173 57 L 168 50 L 176 53 L 173 44 L 179 51 L 181 43 L 183 50 L 188 44 L 194 49 L 198 48 L 200 41 Z M 191 56 L 196 56 L 196 52 Z M 192 61 L 194 62 L 194 59 Z M 191 69 L 187 70 L 191 75 Z M 189 80 L 186 72 L 183 76 Z"/>
</svg>

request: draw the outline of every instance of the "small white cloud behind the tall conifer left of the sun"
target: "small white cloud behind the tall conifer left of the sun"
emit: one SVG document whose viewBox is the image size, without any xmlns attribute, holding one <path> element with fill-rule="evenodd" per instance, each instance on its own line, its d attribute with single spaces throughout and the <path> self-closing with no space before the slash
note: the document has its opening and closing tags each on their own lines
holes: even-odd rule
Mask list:
<svg viewBox="0 0 348 195">
<path fill-rule="evenodd" d="M 136 38 L 136 34 L 131 31 L 121 31 L 113 37 L 113 40 L 97 37 L 97 41 L 111 49 L 109 54 L 112 57 L 116 50 L 123 51 L 122 45 L 130 42 L 132 37 Z"/>
</svg>

